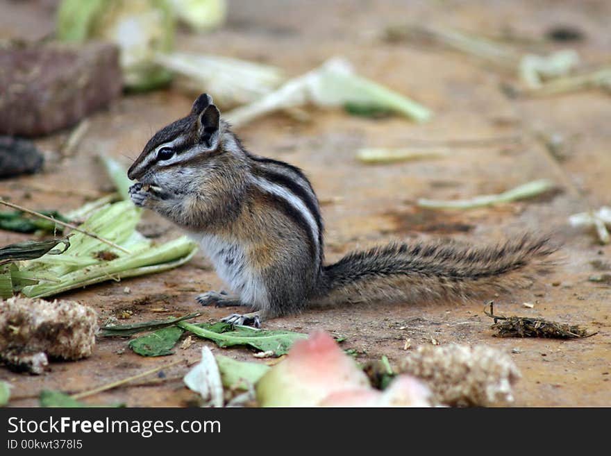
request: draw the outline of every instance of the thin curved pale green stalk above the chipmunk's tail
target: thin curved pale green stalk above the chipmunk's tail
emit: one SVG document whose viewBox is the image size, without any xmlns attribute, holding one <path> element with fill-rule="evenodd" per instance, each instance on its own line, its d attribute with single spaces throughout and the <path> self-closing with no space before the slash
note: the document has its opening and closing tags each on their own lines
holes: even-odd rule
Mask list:
<svg viewBox="0 0 611 456">
<path fill-rule="evenodd" d="M 458 199 L 454 201 L 437 201 L 433 199 L 421 198 L 417 205 L 421 208 L 430 209 L 472 209 L 483 208 L 485 206 L 510 203 L 521 199 L 533 198 L 555 188 L 551 180 L 541 179 L 520 185 L 513 189 L 495 195 L 475 196 L 472 199 Z"/>
</svg>

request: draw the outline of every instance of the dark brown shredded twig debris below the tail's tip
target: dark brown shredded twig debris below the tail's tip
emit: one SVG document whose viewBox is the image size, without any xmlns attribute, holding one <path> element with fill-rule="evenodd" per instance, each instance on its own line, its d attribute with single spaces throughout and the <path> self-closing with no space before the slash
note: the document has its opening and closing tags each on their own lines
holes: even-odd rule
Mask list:
<svg viewBox="0 0 611 456">
<path fill-rule="evenodd" d="M 577 325 L 557 323 L 530 316 L 499 316 L 494 315 L 493 303 L 489 302 L 490 312 L 484 314 L 494 319 L 492 329 L 497 330 L 494 337 L 547 337 L 553 339 L 574 339 L 576 337 L 591 337 L 597 332 L 588 334 L 587 330 Z M 501 321 L 499 321 L 501 320 Z"/>
</svg>

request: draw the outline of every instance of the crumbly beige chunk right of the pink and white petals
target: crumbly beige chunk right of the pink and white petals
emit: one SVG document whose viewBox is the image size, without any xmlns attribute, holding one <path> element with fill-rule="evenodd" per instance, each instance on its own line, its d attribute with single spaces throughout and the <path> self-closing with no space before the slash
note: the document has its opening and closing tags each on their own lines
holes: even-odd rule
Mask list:
<svg viewBox="0 0 611 456">
<path fill-rule="evenodd" d="M 512 402 L 512 386 L 520 378 L 508 355 L 481 345 L 419 346 L 405 357 L 397 372 L 424 382 L 433 403 L 460 407 Z"/>
</svg>

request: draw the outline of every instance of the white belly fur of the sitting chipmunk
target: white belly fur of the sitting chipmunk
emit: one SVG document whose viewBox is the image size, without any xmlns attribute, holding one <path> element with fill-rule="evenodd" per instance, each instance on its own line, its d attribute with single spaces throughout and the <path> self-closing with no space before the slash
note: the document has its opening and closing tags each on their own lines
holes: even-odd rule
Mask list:
<svg viewBox="0 0 611 456">
<path fill-rule="evenodd" d="M 190 234 L 190 237 L 215 265 L 217 274 L 232 292 L 240 295 L 244 305 L 256 310 L 268 307 L 267 290 L 260 274 L 248 264 L 244 249 L 215 235 Z"/>
</svg>

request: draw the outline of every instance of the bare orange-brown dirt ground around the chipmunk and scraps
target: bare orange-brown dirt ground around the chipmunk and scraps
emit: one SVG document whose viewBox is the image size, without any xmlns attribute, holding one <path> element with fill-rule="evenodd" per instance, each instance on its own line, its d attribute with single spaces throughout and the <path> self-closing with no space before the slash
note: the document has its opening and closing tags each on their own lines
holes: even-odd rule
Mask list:
<svg viewBox="0 0 611 456">
<path fill-rule="evenodd" d="M 2 37 L 27 39 L 53 29 L 53 1 L 0 1 Z M 228 24 L 208 35 L 181 31 L 179 49 L 219 53 L 267 62 L 299 75 L 330 56 L 346 56 L 360 74 L 411 96 L 435 113 L 432 121 L 365 119 L 339 110 L 310 110 L 299 122 L 283 115 L 259 119 L 237 133 L 253 152 L 301 167 L 312 180 L 326 223 L 328 261 L 353 248 L 390 239 L 452 237 L 469 242 L 496 242 L 521 230 L 553 230 L 564 246 L 553 273 L 528 289 L 490 296 L 498 314 L 541 316 L 598 331 L 587 339 L 514 339 L 492 337 L 483 302 L 442 305 L 362 304 L 267 321 L 265 328 L 310 332 L 322 328 L 346 337 L 358 360 L 391 362 L 405 356 L 406 339 L 413 347 L 431 344 L 487 344 L 499 348 L 519 367 L 515 386 L 519 407 L 611 405 L 611 287 L 589 281 L 604 273 L 592 262 L 609 265 L 611 245 L 596 244 L 593 233 L 570 228 L 567 217 L 601 205 L 611 194 L 611 99 L 598 91 L 541 99 L 511 98 L 503 85 L 507 75 L 453 51 L 417 43 L 380 39 L 388 25 L 408 21 L 435 23 L 504 37 L 517 45 L 548 51 L 573 47 L 585 62 L 609 58 L 611 32 L 608 1 L 335 1 L 229 0 Z M 584 39 L 544 41 L 553 26 L 572 26 Z M 212 94 L 214 95 L 214 94 Z M 47 164 L 42 174 L 0 181 L 0 196 L 33 209 L 67 211 L 108 192 L 110 183 L 96 156 L 112 156 L 126 167 L 158 128 L 185 115 L 192 98 L 176 91 L 124 96 L 109 110 L 90 117 L 91 126 L 74 155 L 58 149 L 69 132 L 37 140 Z M 565 156 L 556 160 L 545 137 L 562 138 Z M 487 144 L 453 143 L 451 155 L 436 160 L 365 165 L 355 160 L 364 146 L 409 146 L 414 140 L 484 140 Z M 496 208 L 461 212 L 425 211 L 419 197 L 468 198 L 501 192 L 539 178 L 549 178 L 559 191 L 544 197 Z M 144 217 L 147 230 L 178 231 L 154 214 Z M 27 239 L 0 232 L 0 244 Z M 125 288 L 130 289 L 126 293 Z M 173 271 L 71 292 L 62 297 L 91 305 L 100 323 L 124 310 L 133 312 L 122 323 L 147 321 L 193 312 L 194 296 L 222 289 L 210 263 L 197 255 Z M 533 303 L 533 308 L 523 303 Z M 163 313 L 153 309 L 165 309 Z M 206 308 L 215 321 L 227 310 Z M 98 339 L 94 354 L 78 362 L 53 362 L 42 376 L 12 373 L 0 367 L 0 379 L 15 386 L 11 405 L 33 406 L 41 389 L 78 392 L 130 377 L 174 360 L 199 360 L 197 340 L 169 357 L 144 358 L 132 353 L 123 339 Z M 221 350 L 240 360 L 255 361 L 246 348 Z M 260 360 L 265 362 L 265 360 Z M 187 366 L 163 371 L 130 386 L 87 399 L 91 403 L 125 402 L 137 406 L 183 406 L 192 394 L 181 381 Z"/>
</svg>

